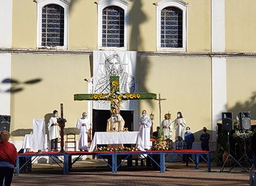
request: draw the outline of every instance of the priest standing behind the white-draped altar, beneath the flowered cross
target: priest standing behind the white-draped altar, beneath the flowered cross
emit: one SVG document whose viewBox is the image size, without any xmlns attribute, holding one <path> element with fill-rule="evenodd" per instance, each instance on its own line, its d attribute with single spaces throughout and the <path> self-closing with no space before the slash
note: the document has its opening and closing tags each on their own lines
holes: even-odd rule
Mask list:
<svg viewBox="0 0 256 186">
<path fill-rule="evenodd" d="M 108 119 L 107 123 L 107 132 L 109 131 L 117 131 L 121 132 L 124 131 L 124 118 L 120 115 L 120 112 L 118 109 L 115 110 L 115 113 L 111 115 L 111 117 Z"/>
</svg>

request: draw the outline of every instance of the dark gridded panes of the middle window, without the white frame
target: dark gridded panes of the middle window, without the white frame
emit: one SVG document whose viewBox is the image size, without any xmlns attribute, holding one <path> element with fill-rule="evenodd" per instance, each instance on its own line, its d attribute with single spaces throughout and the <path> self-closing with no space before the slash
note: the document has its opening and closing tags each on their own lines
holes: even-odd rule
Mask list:
<svg viewBox="0 0 256 186">
<path fill-rule="evenodd" d="M 118 6 L 102 10 L 102 47 L 124 47 L 124 10 Z"/>
</svg>

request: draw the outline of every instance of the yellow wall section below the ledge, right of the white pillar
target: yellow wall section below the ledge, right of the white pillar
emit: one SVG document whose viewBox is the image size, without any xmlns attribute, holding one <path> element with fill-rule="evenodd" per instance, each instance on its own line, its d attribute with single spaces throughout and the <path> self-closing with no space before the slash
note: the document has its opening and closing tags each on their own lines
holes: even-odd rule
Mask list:
<svg viewBox="0 0 256 186">
<path fill-rule="evenodd" d="M 255 58 L 227 59 L 227 110 L 234 117 L 241 111 L 251 111 L 256 118 Z"/>
</svg>

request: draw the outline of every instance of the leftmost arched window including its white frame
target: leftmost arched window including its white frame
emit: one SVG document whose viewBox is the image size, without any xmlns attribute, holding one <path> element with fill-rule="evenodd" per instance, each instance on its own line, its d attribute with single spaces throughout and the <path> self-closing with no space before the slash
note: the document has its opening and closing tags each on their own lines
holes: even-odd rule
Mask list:
<svg viewBox="0 0 256 186">
<path fill-rule="evenodd" d="M 35 0 L 37 3 L 37 47 L 67 49 L 70 0 Z"/>
</svg>

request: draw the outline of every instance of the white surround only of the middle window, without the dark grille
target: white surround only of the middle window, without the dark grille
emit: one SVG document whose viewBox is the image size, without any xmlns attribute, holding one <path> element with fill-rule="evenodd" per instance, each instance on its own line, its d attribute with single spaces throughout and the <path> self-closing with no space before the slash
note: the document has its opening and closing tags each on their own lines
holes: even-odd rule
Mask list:
<svg viewBox="0 0 256 186">
<path fill-rule="evenodd" d="M 99 0 L 98 4 L 98 50 L 127 50 L 128 48 L 128 6 L 124 0 Z M 108 6 L 118 6 L 124 10 L 124 47 L 102 47 L 102 10 Z"/>
</svg>

